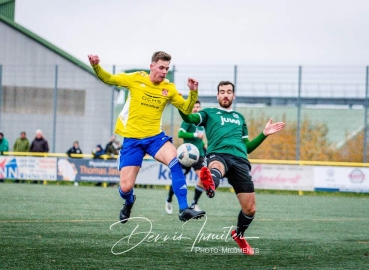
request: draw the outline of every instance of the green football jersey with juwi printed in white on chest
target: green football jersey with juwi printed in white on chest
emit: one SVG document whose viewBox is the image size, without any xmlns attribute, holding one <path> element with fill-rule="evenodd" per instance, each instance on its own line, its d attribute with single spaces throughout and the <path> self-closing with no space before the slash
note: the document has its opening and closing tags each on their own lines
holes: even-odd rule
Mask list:
<svg viewBox="0 0 369 270">
<path fill-rule="evenodd" d="M 244 138 L 248 138 L 245 118 L 235 111 L 207 108 L 198 112 L 205 127 L 208 154 L 222 153 L 247 158 Z"/>
</svg>

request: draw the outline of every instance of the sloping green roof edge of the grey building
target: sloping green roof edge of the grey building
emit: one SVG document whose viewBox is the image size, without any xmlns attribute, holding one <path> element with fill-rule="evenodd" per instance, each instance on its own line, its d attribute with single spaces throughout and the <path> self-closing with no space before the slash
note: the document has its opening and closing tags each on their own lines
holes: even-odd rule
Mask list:
<svg viewBox="0 0 369 270">
<path fill-rule="evenodd" d="M 60 49 L 57 46 L 51 44 L 50 42 L 48 42 L 45 39 L 41 38 L 40 36 L 36 35 L 32 31 L 28 30 L 27 28 L 25 28 L 25 27 L 23 27 L 23 26 L 15 23 L 14 21 L 6 18 L 5 16 L 3 16 L 1 14 L 0 14 L 0 21 L 6 23 L 10 27 L 12 27 L 15 30 L 21 32 L 22 34 L 28 36 L 29 38 L 33 39 L 37 43 L 39 43 L 42 46 L 46 47 L 47 49 L 49 49 L 49 50 L 53 51 L 54 53 L 60 55 L 61 57 L 63 57 L 66 60 L 70 61 L 71 63 L 73 63 L 74 65 L 78 66 L 79 68 L 87 71 L 91 75 L 96 76 L 95 75 L 95 72 L 93 71 L 93 69 L 89 65 L 83 63 L 82 61 L 78 60 L 77 58 L 73 57 L 72 55 L 66 53 L 62 49 Z"/>
</svg>

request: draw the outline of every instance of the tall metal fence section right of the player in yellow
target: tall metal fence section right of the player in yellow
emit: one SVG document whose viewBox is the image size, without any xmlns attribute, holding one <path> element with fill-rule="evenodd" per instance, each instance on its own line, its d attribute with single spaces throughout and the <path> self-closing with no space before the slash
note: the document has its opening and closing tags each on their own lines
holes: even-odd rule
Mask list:
<svg viewBox="0 0 369 270">
<path fill-rule="evenodd" d="M 251 157 L 367 162 L 368 67 L 181 66 L 174 70 L 183 93 L 188 76 L 199 80 L 205 106 L 217 105 L 217 85 L 229 80 L 236 86 L 234 109 L 246 121 L 261 116 L 286 121 L 287 131 L 273 139 L 275 147 L 262 146 L 264 153 L 257 150 Z M 254 135 L 260 129 L 259 125 L 259 130 L 253 130 Z"/>
</svg>

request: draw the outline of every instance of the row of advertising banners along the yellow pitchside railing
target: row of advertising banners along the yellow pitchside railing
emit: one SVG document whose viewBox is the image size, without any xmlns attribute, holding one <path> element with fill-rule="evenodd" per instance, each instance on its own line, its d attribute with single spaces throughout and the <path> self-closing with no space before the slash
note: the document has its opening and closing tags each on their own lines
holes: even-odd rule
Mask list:
<svg viewBox="0 0 369 270">
<path fill-rule="evenodd" d="M 69 165 L 63 166 L 63 165 Z M 327 190 L 369 193 L 369 168 L 339 166 L 299 166 L 253 164 L 252 179 L 256 189 Z M 68 180 L 119 182 L 115 160 L 40 158 L 0 156 L 0 179 Z M 188 186 L 196 186 L 194 170 L 186 175 Z M 145 159 L 136 184 L 170 185 L 169 168 L 156 160 Z M 227 179 L 220 187 L 231 188 Z"/>
</svg>

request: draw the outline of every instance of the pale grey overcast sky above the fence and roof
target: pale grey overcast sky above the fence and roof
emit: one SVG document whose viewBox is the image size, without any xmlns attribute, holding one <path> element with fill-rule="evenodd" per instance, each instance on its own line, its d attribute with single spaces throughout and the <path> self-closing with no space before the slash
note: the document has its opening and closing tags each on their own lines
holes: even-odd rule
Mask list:
<svg viewBox="0 0 369 270">
<path fill-rule="evenodd" d="M 368 0 L 16 0 L 17 23 L 87 63 L 369 65 Z"/>
</svg>

